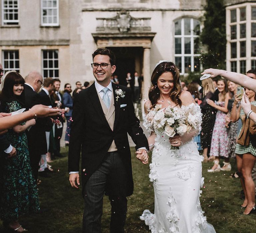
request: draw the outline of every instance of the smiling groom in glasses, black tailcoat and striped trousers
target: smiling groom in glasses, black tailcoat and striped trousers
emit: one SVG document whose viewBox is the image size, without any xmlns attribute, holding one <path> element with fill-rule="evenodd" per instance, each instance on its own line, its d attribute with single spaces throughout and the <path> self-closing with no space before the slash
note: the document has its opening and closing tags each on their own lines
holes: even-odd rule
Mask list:
<svg viewBox="0 0 256 233">
<path fill-rule="evenodd" d="M 96 79 L 74 98 L 69 141 L 68 170 L 72 187 L 78 188 L 82 147 L 83 232 L 101 232 L 104 193 L 111 203 L 110 232 L 124 232 L 127 196 L 133 193 L 131 152 L 127 132 L 148 163 L 148 142 L 134 114 L 130 90 L 111 82 L 115 55 L 109 49 L 93 54 Z"/>
</svg>

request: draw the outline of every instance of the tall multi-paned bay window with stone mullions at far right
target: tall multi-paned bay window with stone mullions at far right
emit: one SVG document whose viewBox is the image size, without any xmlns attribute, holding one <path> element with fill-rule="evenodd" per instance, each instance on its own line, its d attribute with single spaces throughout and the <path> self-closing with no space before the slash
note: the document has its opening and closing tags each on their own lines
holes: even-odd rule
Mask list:
<svg viewBox="0 0 256 233">
<path fill-rule="evenodd" d="M 255 67 L 256 4 L 230 6 L 227 11 L 227 69 L 245 74 Z"/>
</svg>

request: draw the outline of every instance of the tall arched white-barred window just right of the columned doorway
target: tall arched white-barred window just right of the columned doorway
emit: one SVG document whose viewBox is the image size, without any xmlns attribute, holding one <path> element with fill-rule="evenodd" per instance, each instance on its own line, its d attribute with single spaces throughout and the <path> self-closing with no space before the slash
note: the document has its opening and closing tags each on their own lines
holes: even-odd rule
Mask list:
<svg viewBox="0 0 256 233">
<path fill-rule="evenodd" d="M 175 25 L 175 64 L 180 73 L 200 71 L 199 32 L 200 21 L 192 18 L 182 18 Z"/>
</svg>

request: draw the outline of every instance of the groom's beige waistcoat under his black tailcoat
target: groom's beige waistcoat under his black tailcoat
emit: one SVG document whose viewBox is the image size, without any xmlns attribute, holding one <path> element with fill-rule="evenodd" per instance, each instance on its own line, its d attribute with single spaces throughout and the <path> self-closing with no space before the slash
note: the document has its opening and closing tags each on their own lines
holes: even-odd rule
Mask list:
<svg viewBox="0 0 256 233">
<path fill-rule="evenodd" d="M 98 93 L 98 92 L 97 92 Z M 100 104 L 101 104 L 101 107 L 102 107 L 102 110 L 103 110 L 103 113 L 106 117 L 106 120 L 108 121 L 108 124 L 110 126 L 110 128 L 112 129 L 113 131 L 113 128 L 114 128 L 114 121 L 115 121 L 115 105 L 114 105 L 114 93 L 113 93 L 113 90 L 112 90 L 112 95 L 111 95 L 111 100 L 110 100 L 110 106 L 109 106 L 109 109 L 106 107 L 106 105 L 104 104 L 103 100 L 101 99 L 100 97 L 100 94 L 98 93 L 98 97 L 99 97 L 99 100 L 100 100 Z M 115 144 L 115 141 L 113 140 L 112 141 L 112 144 L 110 145 L 109 149 L 108 149 L 108 152 L 112 152 L 112 151 L 117 151 L 117 148 L 116 148 L 116 144 Z"/>
</svg>

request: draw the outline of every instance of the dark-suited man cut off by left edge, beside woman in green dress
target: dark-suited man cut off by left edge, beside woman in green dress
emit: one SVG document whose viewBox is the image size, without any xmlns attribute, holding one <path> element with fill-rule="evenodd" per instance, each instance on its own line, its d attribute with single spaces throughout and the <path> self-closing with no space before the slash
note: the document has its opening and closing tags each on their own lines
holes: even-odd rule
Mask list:
<svg viewBox="0 0 256 233">
<path fill-rule="evenodd" d="M 0 63 L 0 84 L 2 83 L 2 76 L 4 75 L 3 66 Z M 2 114 L 2 108 L 0 104 L 0 117 L 6 116 L 5 114 Z M 0 135 L 0 154 L 7 155 L 8 157 L 12 157 L 16 155 L 16 148 L 14 148 L 9 141 L 6 140 L 4 134 Z"/>
</svg>

